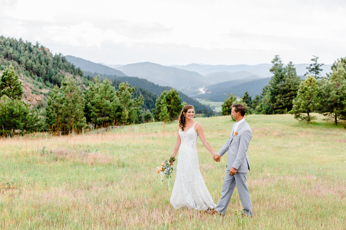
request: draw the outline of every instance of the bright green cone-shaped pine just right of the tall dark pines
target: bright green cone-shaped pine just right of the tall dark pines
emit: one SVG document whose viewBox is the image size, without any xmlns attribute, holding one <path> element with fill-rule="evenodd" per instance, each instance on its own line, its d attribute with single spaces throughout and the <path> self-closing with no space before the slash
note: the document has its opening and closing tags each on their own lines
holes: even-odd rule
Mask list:
<svg viewBox="0 0 346 230">
<path fill-rule="evenodd" d="M 316 119 L 316 117 L 311 116 L 310 113 L 318 107 L 319 98 L 316 78 L 309 75 L 308 78 L 300 83 L 298 94 L 297 97 L 293 99 L 293 108 L 290 113 L 294 114 L 295 119 L 309 123 Z"/>
</svg>

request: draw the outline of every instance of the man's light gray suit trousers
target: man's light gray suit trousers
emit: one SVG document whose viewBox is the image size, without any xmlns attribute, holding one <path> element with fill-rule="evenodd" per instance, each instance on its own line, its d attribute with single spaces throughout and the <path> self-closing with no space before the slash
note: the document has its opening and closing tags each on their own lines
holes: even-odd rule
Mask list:
<svg viewBox="0 0 346 230">
<path fill-rule="evenodd" d="M 246 216 L 252 216 L 252 204 L 249 189 L 246 184 L 247 172 L 237 172 L 235 175 L 229 176 L 229 170 L 226 170 L 224 184 L 222 184 L 222 193 L 215 210 L 221 214 L 225 214 L 229 201 L 232 197 L 234 187 L 237 185 L 240 200 L 243 204 L 243 213 Z"/>
</svg>

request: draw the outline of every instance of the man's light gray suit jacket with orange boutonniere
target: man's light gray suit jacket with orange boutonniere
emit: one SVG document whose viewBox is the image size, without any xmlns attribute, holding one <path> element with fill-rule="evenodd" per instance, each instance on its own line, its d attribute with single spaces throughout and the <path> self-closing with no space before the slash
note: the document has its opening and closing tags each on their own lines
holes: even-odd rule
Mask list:
<svg viewBox="0 0 346 230">
<path fill-rule="evenodd" d="M 237 172 L 247 172 L 250 170 L 250 161 L 247 155 L 247 149 L 249 147 L 250 140 L 252 138 L 252 132 L 250 126 L 246 121 L 239 124 L 237 130 L 234 130 L 235 125 L 232 127 L 231 134 L 219 150 L 218 154 L 224 156 L 227 154 L 227 170 L 231 167 L 237 169 Z M 237 135 L 234 135 L 234 131 L 237 131 Z"/>
</svg>

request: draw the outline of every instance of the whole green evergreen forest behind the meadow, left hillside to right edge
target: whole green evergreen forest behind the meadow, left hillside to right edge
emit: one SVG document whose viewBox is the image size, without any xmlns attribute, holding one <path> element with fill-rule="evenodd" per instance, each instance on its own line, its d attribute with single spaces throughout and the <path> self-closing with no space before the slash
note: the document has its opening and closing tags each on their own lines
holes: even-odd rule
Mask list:
<svg viewBox="0 0 346 230">
<path fill-rule="evenodd" d="M 294 64 L 272 60 L 269 81 L 254 98 L 232 92 L 220 115 L 229 115 L 234 103 L 243 103 L 247 114 L 294 114 L 312 122 L 313 112 L 345 125 L 346 57 L 337 59 L 330 73 L 321 76 L 322 63 L 313 56 L 304 80 Z M 265 84 L 268 82 L 267 84 Z M 246 82 L 244 83 L 246 84 Z M 220 84 L 227 90 L 227 84 Z M 261 86 L 262 87 L 262 86 Z M 0 130 L 14 135 L 34 131 L 56 134 L 130 123 L 173 121 L 184 104 L 192 104 L 199 116 L 216 112 L 171 87 L 146 79 L 82 71 L 61 54 L 15 38 L 0 37 Z"/>
</svg>

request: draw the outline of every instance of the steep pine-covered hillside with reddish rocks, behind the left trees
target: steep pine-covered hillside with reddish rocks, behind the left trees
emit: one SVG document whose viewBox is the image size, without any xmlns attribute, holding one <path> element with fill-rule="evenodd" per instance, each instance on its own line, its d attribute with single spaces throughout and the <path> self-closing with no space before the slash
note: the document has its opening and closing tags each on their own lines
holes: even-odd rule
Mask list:
<svg viewBox="0 0 346 230">
<path fill-rule="evenodd" d="M 22 83 L 23 100 L 38 107 L 46 105 L 49 92 L 54 85 L 60 87 L 65 76 L 73 77 L 81 88 L 90 82 L 61 53 L 53 55 L 39 43 L 1 36 L 0 75 L 10 65 Z"/>
</svg>

